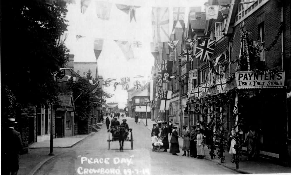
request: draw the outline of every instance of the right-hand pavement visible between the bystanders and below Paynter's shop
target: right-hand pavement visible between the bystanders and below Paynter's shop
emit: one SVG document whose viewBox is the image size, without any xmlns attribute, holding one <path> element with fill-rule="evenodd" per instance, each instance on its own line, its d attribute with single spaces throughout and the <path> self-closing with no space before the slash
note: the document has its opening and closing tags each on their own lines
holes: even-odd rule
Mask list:
<svg viewBox="0 0 291 175">
<path fill-rule="evenodd" d="M 142 119 L 142 122 L 145 125 L 146 123 L 145 119 Z M 156 122 L 152 121 L 151 119 L 148 119 L 147 123 L 148 123 L 147 128 L 151 131 L 152 124 Z M 178 138 L 178 141 L 179 141 L 179 147 L 182 148 L 183 139 Z M 231 162 L 232 155 L 228 154 L 227 151 L 224 153 L 225 161 L 223 163 L 220 163 L 220 159 L 217 158 L 217 156 L 214 159 L 210 158 L 209 156 L 210 149 L 207 149 L 206 146 L 204 149 L 205 149 L 205 154 L 206 154 L 204 159 L 215 162 L 219 165 L 222 165 L 240 174 L 291 173 L 290 167 L 284 167 L 281 165 L 270 163 L 269 161 L 263 158 L 260 158 L 258 161 L 247 161 L 247 156 L 244 156 L 244 155 L 242 155 L 242 161 L 239 162 L 239 169 L 236 169 L 235 163 Z M 216 153 L 216 151 L 214 152 Z"/>
</svg>

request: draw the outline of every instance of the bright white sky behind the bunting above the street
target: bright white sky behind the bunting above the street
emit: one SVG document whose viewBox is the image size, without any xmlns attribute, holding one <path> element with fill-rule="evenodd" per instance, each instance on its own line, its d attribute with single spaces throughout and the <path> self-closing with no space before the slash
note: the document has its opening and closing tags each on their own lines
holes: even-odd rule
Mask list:
<svg viewBox="0 0 291 175">
<path fill-rule="evenodd" d="M 152 7 L 169 7 L 170 27 L 173 26 L 173 7 L 186 7 L 185 23 L 189 7 L 201 6 L 204 11 L 206 0 L 107 0 L 112 4 L 109 20 L 98 19 L 95 3 L 99 0 L 91 0 L 86 12 L 81 13 L 80 1 L 76 4 L 68 4 L 66 19 L 68 22 L 68 38 L 65 45 L 74 54 L 74 62 L 95 62 L 93 43 L 95 38 L 104 39 L 102 52 L 97 60 L 99 75 L 105 79 L 120 77 L 130 77 L 133 86 L 134 80 L 149 81 L 154 58 L 150 52 L 150 42 L 152 42 L 151 10 Z M 106 1 L 106 0 L 102 0 Z M 130 22 L 129 14 L 116 8 L 115 4 L 127 4 L 141 6 L 136 9 L 135 18 Z M 186 25 L 187 26 L 187 25 Z M 84 37 L 76 40 L 76 35 Z M 141 48 L 134 48 L 134 59 L 127 60 L 118 45 L 113 40 L 140 41 Z M 133 78 L 141 75 L 143 78 Z M 112 83 L 113 85 L 113 83 Z M 107 102 L 117 102 L 120 108 L 124 108 L 127 102 L 127 92 L 122 90 L 121 85 L 116 91 L 113 87 L 104 88 L 106 92 L 113 94 Z"/>
</svg>

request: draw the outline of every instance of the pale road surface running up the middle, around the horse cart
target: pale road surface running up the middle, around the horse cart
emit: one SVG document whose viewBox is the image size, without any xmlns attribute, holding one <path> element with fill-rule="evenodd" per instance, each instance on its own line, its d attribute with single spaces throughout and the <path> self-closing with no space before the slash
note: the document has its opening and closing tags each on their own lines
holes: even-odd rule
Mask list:
<svg viewBox="0 0 291 175">
<path fill-rule="evenodd" d="M 122 119 L 120 117 L 120 123 Z M 182 149 L 179 156 L 169 154 L 169 150 L 152 152 L 150 130 L 143 123 L 135 124 L 134 119 L 126 119 L 129 128 L 132 128 L 133 150 L 129 141 L 124 142 L 122 152 L 118 141 L 110 142 L 108 150 L 108 133 L 104 124 L 102 130 L 74 147 L 60 149 L 62 154 L 45 163 L 36 175 L 237 174 L 212 161 L 181 156 Z"/>
</svg>

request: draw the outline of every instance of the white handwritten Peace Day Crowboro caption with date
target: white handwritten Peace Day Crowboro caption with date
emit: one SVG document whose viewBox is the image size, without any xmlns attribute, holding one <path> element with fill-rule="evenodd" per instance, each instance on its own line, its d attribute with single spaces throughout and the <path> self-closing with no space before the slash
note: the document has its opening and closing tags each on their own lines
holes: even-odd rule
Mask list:
<svg viewBox="0 0 291 175">
<path fill-rule="evenodd" d="M 111 164 L 114 166 L 118 166 L 117 168 L 104 168 L 104 167 L 83 167 L 80 166 L 77 168 L 78 174 L 120 174 L 120 175 L 133 175 L 133 174 L 142 174 L 142 175 L 149 175 L 149 169 L 131 169 L 129 166 L 133 164 L 132 158 L 134 155 L 130 156 L 129 158 L 88 158 L 85 156 L 78 156 L 80 157 L 81 165 L 88 166 L 98 166 L 98 165 L 106 165 Z M 109 166 L 109 165 L 107 165 Z M 120 166 L 125 166 L 128 168 L 120 168 Z"/>
</svg>

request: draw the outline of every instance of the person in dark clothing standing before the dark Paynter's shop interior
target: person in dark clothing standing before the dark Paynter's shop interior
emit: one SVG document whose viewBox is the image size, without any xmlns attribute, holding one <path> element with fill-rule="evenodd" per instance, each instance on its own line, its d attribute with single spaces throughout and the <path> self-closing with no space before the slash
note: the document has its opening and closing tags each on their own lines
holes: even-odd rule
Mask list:
<svg viewBox="0 0 291 175">
<path fill-rule="evenodd" d="M 248 142 L 248 160 L 256 158 L 256 146 L 257 146 L 258 134 L 255 129 L 251 126 L 249 132 L 246 134 L 245 143 Z"/>
</svg>

